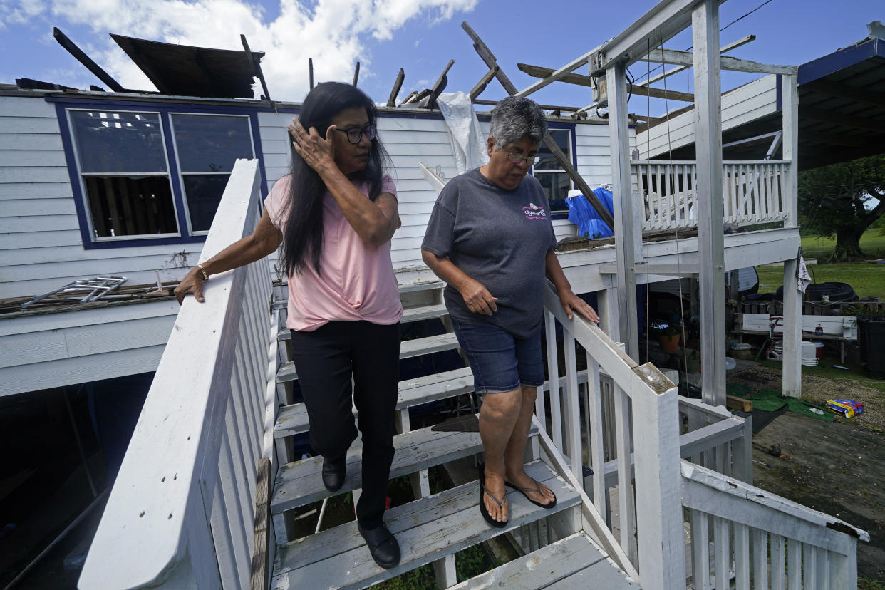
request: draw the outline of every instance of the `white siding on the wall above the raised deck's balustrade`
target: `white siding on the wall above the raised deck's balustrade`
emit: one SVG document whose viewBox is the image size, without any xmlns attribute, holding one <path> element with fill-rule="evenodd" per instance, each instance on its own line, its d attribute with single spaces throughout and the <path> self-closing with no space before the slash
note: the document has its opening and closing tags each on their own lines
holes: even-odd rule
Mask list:
<svg viewBox="0 0 885 590">
<path fill-rule="evenodd" d="M 733 129 L 777 111 L 777 77 L 768 75 L 722 95 L 722 131 Z M 669 129 L 669 138 L 667 131 Z M 640 157 L 657 157 L 670 149 L 695 142 L 695 111 L 684 112 L 638 134 Z"/>
</svg>

